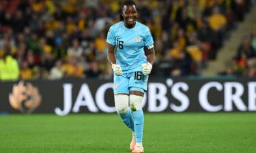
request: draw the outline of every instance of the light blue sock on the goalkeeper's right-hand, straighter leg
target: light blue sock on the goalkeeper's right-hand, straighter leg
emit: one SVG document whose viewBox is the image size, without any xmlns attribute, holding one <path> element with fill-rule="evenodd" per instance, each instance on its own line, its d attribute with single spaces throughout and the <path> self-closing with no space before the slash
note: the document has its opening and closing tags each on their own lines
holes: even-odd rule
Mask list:
<svg viewBox="0 0 256 153">
<path fill-rule="evenodd" d="M 134 120 L 134 130 L 135 130 L 135 135 L 136 135 L 136 141 L 142 142 L 143 126 L 144 126 L 143 110 L 139 109 L 137 111 L 132 112 L 132 117 Z"/>
</svg>

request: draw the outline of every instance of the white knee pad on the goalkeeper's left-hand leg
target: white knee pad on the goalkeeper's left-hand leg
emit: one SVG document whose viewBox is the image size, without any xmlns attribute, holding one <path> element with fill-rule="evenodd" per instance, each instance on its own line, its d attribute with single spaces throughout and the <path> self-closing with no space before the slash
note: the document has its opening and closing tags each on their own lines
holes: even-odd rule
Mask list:
<svg viewBox="0 0 256 153">
<path fill-rule="evenodd" d="M 115 109 L 119 114 L 125 114 L 129 108 L 128 95 L 115 95 Z"/>
</svg>

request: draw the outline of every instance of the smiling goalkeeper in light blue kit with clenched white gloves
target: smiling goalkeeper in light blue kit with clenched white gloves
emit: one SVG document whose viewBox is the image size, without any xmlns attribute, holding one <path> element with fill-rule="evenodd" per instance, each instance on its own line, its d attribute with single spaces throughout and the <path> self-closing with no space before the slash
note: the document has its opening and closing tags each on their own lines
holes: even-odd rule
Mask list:
<svg viewBox="0 0 256 153">
<path fill-rule="evenodd" d="M 154 41 L 150 29 L 137 22 L 137 5 L 134 1 L 124 1 L 120 17 L 121 22 L 110 27 L 106 38 L 108 58 L 114 72 L 115 108 L 122 121 L 132 130 L 130 150 L 144 152 L 141 105 L 155 58 Z"/>
</svg>

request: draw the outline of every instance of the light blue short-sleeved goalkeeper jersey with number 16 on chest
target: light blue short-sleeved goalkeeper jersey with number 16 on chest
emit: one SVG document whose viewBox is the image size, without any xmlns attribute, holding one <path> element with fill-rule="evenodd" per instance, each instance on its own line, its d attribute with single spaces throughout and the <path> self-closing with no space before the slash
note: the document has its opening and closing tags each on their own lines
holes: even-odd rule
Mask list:
<svg viewBox="0 0 256 153">
<path fill-rule="evenodd" d="M 141 65 L 147 63 L 144 47 L 154 44 L 150 29 L 140 22 L 132 29 L 126 28 L 124 22 L 113 24 L 106 42 L 115 46 L 116 64 L 121 66 L 123 73 L 141 71 Z"/>
</svg>

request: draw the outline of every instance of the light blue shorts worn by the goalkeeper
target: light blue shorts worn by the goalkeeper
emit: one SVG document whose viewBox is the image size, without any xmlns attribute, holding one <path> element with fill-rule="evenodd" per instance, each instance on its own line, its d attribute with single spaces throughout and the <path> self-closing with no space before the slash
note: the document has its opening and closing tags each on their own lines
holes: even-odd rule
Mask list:
<svg viewBox="0 0 256 153">
<path fill-rule="evenodd" d="M 126 93 L 130 91 L 147 91 L 148 75 L 143 75 L 141 71 L 123 73 L 121 76 L 114 75 L 114 94 Z"/>
</svg>

